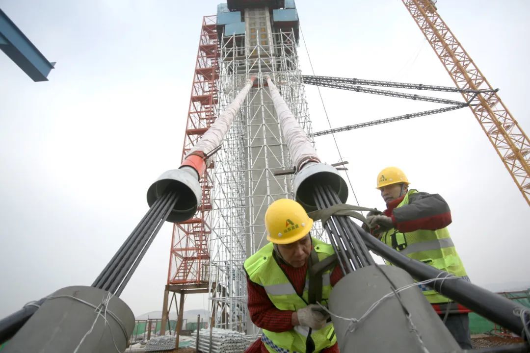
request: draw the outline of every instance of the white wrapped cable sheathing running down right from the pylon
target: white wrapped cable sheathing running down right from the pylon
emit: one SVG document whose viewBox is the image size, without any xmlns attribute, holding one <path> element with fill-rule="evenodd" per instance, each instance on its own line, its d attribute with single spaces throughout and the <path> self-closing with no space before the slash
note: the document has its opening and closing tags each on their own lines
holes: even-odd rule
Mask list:
<svg viewBox="0 0 530 353">
<path fill-rule="evenodd" d="M 287 103 L 285 103 L 284 98 L 278 92 L 278 88 L 272 83 L 270 76 L 267 76 L 267 83 L 269 84 L 272 102 L 278 114 L 281 132 L 287 141 L 287 148 L 291 153 L 294 166 L 299 168 L 302 162 L 308 159 L 317 159 L 320 161 L 305 131 L 302 130 L 302 127 L 296 121 Z"/>
</svg>

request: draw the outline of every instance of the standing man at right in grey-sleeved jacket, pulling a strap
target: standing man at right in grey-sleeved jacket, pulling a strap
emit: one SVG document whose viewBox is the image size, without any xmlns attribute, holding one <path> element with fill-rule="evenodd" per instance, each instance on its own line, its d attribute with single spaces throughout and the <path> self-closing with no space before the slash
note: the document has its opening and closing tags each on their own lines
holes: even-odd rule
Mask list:
<svg viewBox="0 0 530 353">
<path fill-rule="evenodd" d="M 409 190 L 409 184 L 407 176 L 396 167 L 385 168 L 377 175 L 377 189 L 386 210 L 367 216 L 372 234 L 409 258 L 469 280 L 447 230 L 452 222 L 449 206 L 440 195 Z M 460 347 L 471 349 L 470 311 L 427 286 L 420 288 Z"/>
</svg>

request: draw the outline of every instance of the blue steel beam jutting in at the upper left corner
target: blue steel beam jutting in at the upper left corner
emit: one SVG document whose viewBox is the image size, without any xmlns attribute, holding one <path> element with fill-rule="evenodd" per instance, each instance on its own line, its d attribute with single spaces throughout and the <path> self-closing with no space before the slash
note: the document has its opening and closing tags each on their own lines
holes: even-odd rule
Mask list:
<svg viewBox="0 0 530 353">
<path fill-rule="evenodd" d="M 47 81 L 55 62 L 49 62 L 0 9 L 0 49 L 35 82 Z"/>
</svg>

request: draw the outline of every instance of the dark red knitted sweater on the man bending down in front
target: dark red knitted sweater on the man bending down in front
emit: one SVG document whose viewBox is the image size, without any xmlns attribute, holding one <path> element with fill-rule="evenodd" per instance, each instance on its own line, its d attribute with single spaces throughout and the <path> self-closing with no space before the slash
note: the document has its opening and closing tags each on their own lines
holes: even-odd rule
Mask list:
<svg viewBox="0 0 530 353">
<path fill-rule="evenodd" d="M 302 267 L 292 267 L 280 261 L 280 267 L 285 271 L 290 282 L 294 285 L 295 291 L 302 295 L 305 286 L 307 264 Z M 340 266 L 335 266 L 330 276 L 331 286 L 334 286 L 342 278 Z M 248 306 L 252 322 L 259 328 L 272 332 L 285 332 L 293 329 L 290 310 L 279 310 L 267 296 L 265 288 L 252 282 L 247 277 L 247 291 L 249 294 Z M 255 341 L 245 353 L 268 353 L 261 338 Z M 322 353 L 339 353 L 337 343 L 330 348 L 326 348 Z"/>
</svg>

